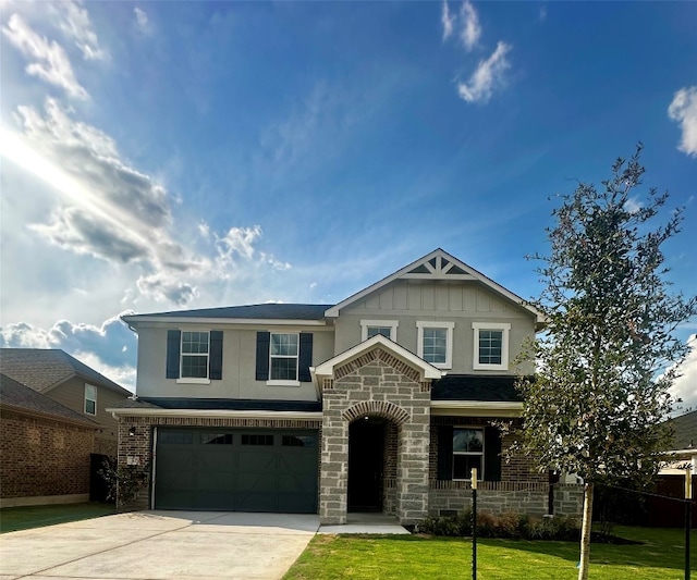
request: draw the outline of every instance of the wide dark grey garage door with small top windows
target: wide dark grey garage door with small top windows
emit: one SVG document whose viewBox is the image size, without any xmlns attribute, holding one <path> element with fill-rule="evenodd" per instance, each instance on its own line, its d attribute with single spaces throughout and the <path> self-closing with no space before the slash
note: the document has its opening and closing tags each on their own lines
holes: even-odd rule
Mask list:
<svg viewBox="0 0 697 580">
<path fill-rule="evenodd" d="M 317 513 L 317 431 L 157 430 L 155 507 Z"/>
</svg>

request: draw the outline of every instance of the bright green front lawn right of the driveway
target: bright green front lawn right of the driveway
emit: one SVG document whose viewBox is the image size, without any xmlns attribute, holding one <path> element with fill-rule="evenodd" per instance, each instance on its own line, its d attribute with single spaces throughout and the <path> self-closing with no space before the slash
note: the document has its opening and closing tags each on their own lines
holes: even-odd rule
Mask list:
<svg viewBox="0 0 697 580">
<path fill-rule="evenodd" d="M 615 535 L 641 545 L 592 544 L 590 577 L 684 578 L 684 531 L 616 527 Z M 697 569 L 697 533 L 690 536 Z M 573 580 L 578 544 L 525 540 L 479 540 L 479 580 Z M 316 535 L 284 580 L 472 578 L 472 539 L 414 535 Z"/>
</svg>

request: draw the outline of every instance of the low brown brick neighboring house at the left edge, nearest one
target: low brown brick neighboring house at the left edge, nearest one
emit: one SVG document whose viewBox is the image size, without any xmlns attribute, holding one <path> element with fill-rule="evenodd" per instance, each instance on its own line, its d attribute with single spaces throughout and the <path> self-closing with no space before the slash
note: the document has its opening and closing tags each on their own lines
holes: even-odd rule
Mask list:
<svg viewBox="0 0 697 580">
<path fill-rule="evenodd" d="M 86 502 L 98 425 L 0 374 L 0 507 Z"/>
</svg>

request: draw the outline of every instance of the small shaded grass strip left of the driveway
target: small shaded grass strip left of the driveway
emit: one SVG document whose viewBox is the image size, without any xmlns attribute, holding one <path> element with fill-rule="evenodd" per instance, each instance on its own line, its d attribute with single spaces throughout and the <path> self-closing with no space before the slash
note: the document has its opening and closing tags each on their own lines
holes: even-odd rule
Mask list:
<svg viewBox="0 0 697 580">
<path fill-rule="evenodd" d="M 0 509 L 0 533 L 98 518 L 109 514 L 115 514 L 115 507 L 112 504 L 95 502 L 88 504 L 5 507 Z"/>
</svg>

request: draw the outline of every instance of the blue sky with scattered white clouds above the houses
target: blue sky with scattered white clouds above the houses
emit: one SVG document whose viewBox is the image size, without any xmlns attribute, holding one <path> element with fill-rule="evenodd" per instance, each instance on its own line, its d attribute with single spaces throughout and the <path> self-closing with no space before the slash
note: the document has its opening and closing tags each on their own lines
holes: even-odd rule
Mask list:
<svg viewBox="0 0 697 580">
<path fill-rule="evenodd" d="M 438 247 L 535 297 L 557 196 L 638 141 L 633 201 L 685 208 L 667 277 L 697 294 L 696 2 L 0 0 L 0 26 L 2 346 L 133 388 L 125 312 L 335 304 Z M 695 407 L 697 348 L 683 372 Z"/>
</svg>

